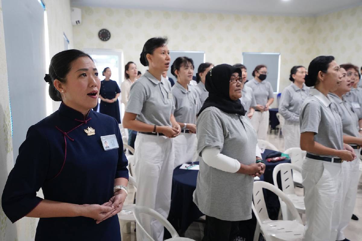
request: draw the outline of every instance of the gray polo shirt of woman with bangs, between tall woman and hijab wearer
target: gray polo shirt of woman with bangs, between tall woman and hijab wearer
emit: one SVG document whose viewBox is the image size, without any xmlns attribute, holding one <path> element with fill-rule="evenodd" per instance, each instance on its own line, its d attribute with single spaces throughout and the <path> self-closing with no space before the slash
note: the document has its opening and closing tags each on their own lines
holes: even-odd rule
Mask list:
<svg viewBox="0 0 362 241">
<path fill-rule="evenodd" d="M 180 83 L 172 86 L 175 110 L 173 115 L 177 122 L 196 124 L 196 115 L 201 109 L 199 92 L 196 87 L 188 85 L 186 90 Z"/>
</svg>

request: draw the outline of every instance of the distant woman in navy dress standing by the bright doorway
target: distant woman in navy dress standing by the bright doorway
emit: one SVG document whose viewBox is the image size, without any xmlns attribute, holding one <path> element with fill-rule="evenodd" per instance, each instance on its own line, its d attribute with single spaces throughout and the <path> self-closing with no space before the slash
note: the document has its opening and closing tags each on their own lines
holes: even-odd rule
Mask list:
<svg viewBox="0 0 362 241">
<path fill-rule="evenodd" d="M 99 105 L 99 112 L 114 117 L 118 124 L 121 124 L 118 104 L 118 97 L 121 90 L 119 89 L 117 82 L 110 79 L 112 75 L 110 68 L 105 68 L 102 75 L 105 79 L 101 81 L 101 89 L 99 93 L 101 103 Z"/>
</svg>

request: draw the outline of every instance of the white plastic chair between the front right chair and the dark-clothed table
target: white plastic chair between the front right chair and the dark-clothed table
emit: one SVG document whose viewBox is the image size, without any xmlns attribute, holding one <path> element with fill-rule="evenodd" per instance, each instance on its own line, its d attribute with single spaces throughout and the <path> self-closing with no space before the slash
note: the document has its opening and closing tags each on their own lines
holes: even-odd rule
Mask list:
<svg viewBox="0 0 362 241">
<path fill-rule="evenodd" d="M 290 201 L 293 203 L 294 207 L 298 211 L 299 214 L 305 214 L 306 213 L 306 206 L 304 206 L 304 197 L 298 196 L 295 194 L 294 190 L 294 181 L 292 177 L 292 170 L 301 172 L 302 168 L 298 167 L 297 165 L 291 164 L 291 163 L 281 163 L 278 164 L 274 170 L 273 170 L 273 182 L 274 186 L 278 187 L 277 182 L 277 175 L 280 171 L 280 178 L 282 183 L 282 191 L 287 195 L 287 197 L 290 199 Z M 283 220 L 290 220 L 291 214 L 286 206 L 286 204 L 282 201 L 282 199 L 279 197 L 280 202 L 280 209 L 283 215 Z"/>
</svg>

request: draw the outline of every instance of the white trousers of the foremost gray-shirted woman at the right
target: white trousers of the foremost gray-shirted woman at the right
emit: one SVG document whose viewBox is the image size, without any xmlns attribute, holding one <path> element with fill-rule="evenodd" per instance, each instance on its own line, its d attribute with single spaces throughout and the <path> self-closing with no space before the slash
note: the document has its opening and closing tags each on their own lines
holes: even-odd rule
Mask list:
<svg viewBox="0 0 362 241">
<path fill-rule="evenodd" d="M 302 177 L 306 205 L 303 241 L 335 241 L 342 207 L 342 164 L 306 157 Z"/>
</svg>

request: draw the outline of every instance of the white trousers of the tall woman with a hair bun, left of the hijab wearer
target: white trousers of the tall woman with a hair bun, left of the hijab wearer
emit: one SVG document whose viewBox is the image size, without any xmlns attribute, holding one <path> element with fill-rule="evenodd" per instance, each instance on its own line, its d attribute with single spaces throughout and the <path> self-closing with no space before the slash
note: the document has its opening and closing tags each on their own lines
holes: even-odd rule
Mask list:
<svg viewBox="0 0 362 241">
<path fill-rule="evenodd" d="M 171 204 L 173 138 L 138 133 L 134 156 L 136 205 L 150 207 L 167 218 Z M 164 227 L 156 219 L 142 215 L 140 223 L 154 240 L 163 240 Z M 136 237 L 138 241 L 148 240 L 140 228 L 136 228 Z"/>
</svg>

